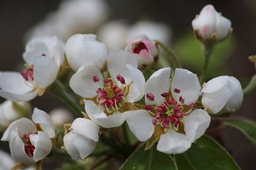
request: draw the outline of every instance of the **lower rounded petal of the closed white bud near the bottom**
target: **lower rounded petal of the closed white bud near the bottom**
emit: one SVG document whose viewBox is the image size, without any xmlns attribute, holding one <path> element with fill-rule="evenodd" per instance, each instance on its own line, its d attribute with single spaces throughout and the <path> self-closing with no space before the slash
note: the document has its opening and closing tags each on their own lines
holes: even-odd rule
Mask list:
<svg viewBox="0 0 256 170">
<path fill-rule="evenodd" d="M 96 142 L 71 130 L 63 137 L 65 149 L 72 159 L 85 159 L 96 147 Z"/>
</svg>

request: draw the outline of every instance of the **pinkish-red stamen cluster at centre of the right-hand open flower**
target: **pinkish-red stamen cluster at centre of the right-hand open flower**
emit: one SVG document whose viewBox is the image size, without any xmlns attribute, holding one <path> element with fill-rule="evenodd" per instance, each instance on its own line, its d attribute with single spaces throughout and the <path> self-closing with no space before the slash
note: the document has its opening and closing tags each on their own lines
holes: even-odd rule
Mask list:
<svg viewBox="0 0 256 170">
<path fill-rule="evenodd" d="M 180 93 L 180 90 L 174 89 L 175 93 Z M 193 103 L 185 105 L 184 98 L 180 97 L 178 103 L 170 93 L 161 94 L 165 98 L 165 101 L 160 106 L 146 105 L 146 110 L 153 117 L 153 125 L 160 125 L 165 131 L 169 128 L 173 128 L 176 132 L 184 133 L 183 118 L 191 113 Z M 153 94 L 146 94 L 146 98 L 150 101 L 154 101 Z"/>
</svg>

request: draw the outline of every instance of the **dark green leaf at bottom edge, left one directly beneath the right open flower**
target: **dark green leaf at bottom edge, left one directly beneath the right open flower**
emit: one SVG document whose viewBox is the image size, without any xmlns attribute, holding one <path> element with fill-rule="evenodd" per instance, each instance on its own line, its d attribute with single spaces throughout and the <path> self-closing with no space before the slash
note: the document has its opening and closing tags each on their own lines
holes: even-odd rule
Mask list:
<svg viewBox="0 0 256 170">
<path fill-rule="evenodd" d="M 144 151 L 144 147 L 145 145 L 142 145 L 135 150 L 119 170 L 176 170 L 170 154 L 158 152 L 155 146 L 148 151 Z"/>
</svg>

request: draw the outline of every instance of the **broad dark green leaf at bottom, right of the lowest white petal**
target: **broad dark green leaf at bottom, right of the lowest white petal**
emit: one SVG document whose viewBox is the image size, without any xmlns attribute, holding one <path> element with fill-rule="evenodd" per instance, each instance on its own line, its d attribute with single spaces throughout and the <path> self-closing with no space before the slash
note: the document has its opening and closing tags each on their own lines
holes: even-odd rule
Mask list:
<svg viewBox="0 0 256 170">
<path fill-rule="evenodd" d="M 175 156 L 178 170 L 237 170 L 235 160 L 218 142 L 203 136 L 183 154 Z"/>
</svg>

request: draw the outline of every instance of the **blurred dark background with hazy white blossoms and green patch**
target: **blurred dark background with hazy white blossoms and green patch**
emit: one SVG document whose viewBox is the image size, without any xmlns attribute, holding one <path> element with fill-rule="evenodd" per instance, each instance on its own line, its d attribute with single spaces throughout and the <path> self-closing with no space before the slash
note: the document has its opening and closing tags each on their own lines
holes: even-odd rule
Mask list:
<svg viewBox="0 0 256 170">
<path fill-rule="evenodd" d="M 240 79 L 245 86 L 255 74 L 254 64 L 247 60 L 249 55 L 256 53 L 255 0 L 81 1 L 1 1 L 0 70 L 23 69 L 22 53 L 33 36 L 57 35 L 65 41 L 75 33 L 95 33 L 98 40 L 112 49 L 124 47 L 125 40 L 133 34 L 146 33 L 149 38 L 172 47 L 181 57 L 183 67 L 199 74 L 203 56 L 200 43 L 193 36 L 191 21 L 203 6 L 213 4 L 232 21 L 233 35 L 216 47 L 208 79 L 228 74 Z M 255 97 L 255 92 L 246 96 L 242 108 L 235 114 L 256 120 Z M 63 106 L 50 94 L 36 98 L 32 104 L 45 111 Z M 242 169 L 256 166 L 256 148 L 246 137 L 230 128 L 221 135 L 223 145 Z M 8 143 L 0 142 L 0 149 L 9 152 Z"/>
</svg>

